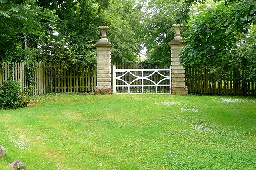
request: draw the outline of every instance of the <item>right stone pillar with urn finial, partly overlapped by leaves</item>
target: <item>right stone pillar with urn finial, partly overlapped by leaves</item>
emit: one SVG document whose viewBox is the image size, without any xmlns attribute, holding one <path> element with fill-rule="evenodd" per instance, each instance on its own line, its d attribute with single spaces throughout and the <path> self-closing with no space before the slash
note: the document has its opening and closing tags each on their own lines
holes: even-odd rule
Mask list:
<svg viewBox="0 0 256 170">
<path fill-rule="evenodd" d="M 182 47 L 186 46 L 188 42 L 185 42 L 181 38 L 180 30 L 183 27 L 182 24 L 173 24 L 172 27 L 176 32 L 173 40 L 168 42 L 172 53 L 172 94 L 187 95 L 188 90 L 185 86 L 185 69 L 180 63 L 178 54 Z"/>
</svg>

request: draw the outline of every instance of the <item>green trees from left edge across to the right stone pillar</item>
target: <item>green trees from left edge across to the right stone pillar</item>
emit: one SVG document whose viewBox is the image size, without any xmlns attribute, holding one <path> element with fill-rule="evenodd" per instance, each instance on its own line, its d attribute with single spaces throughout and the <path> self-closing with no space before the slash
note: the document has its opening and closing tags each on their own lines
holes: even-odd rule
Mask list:
<svg viewBox="0 0 256 170">
<path fill-rule="evenodd" d="M 96 64 L 98 26 L 108 25 L 113 62 L 139 59 L 170 64 L 175 14 L 181 4 L 164 0 L 0 0 L 0 62 Z"/>
</svg>

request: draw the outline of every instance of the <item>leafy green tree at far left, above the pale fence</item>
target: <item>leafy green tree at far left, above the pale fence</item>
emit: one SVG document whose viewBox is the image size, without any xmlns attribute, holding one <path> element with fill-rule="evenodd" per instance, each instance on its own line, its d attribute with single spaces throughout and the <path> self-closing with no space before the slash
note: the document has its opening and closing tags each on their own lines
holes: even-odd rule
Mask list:
<svg viewBox="0 0 256 170">
<path fill-rule="evenodd" d="M 54 12 L 42 10 L 35 2 L 0 1 L 0 62 L 24 60 L 28 53 L 29 39 L 44 35 L 40 20 L 45 20 L 48 24 L 54 22 Z"/>
</svg>

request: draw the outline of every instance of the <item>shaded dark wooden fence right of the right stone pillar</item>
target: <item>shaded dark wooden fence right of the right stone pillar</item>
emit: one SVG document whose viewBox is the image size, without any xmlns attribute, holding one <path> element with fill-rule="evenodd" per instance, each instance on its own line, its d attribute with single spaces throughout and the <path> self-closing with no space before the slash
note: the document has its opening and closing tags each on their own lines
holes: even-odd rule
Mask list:
<svg viewBox="0 0 256 170">
<path fill-rule="evenodd" d="M 228 76 L 217 78 L 206 68 L 186 67 L 185 78 L 188 92 L 204 94 L 256 95 L 256 82 L 245 82 L 243 72 L 234 70 Z"/>
</svg>

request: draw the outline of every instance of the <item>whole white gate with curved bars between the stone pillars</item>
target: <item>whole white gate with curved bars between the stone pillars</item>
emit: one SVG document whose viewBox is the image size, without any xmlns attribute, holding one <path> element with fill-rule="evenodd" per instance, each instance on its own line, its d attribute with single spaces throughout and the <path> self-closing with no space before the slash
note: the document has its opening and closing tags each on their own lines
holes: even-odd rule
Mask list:
<svg viewBox="0 0 256 170">
<path fill-rule="evenodd" d="M 169 69 L 116 69 L 113 66 L 112 76 L 114 94 L 171 94 L 171 66 Z"/>
</svg>

